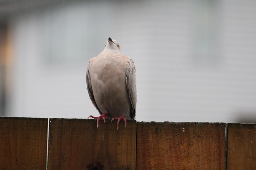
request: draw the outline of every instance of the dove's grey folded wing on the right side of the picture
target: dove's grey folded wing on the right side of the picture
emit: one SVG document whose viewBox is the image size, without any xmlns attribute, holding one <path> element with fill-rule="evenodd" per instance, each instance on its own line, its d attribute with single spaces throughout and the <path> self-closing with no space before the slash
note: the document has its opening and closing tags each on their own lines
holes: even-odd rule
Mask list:
<svg viewBox="0 0 256 170">
<path fill-rule="evenodd" d="M 129 94 L 130 102 L 131 102 L 131 114 L 132 119 L 135 119 L 136 114 L 136 103 L 137 103 L 137 91 L 136 91 L 136 77 L 135 77 L 135 66 L 130 59 L 128 62 L 128 67 L 126 68 L 126 88 Z"/>
</svg>

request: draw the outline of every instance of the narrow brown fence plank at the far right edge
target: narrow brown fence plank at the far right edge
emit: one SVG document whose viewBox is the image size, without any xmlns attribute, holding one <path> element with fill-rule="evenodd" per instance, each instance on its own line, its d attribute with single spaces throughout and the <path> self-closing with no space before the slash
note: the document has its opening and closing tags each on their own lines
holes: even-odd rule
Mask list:
<svg viewBox="0 0 256 170">
<path fill-rule="evenodd" d="M 256 169 L 256 124 L 228 123 L 228 169 Z"/>
</svg>

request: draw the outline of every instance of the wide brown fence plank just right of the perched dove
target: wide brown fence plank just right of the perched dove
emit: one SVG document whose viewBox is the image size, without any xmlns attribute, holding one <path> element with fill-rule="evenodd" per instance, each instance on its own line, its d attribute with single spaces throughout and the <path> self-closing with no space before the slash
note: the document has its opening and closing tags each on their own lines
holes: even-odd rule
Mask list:
<svg viewBox="0 0 256 170">
<path fill-rule="evenodd" d="M 136 167 L 225 169 L 225 123 L 137 123 Z"/>
</svg>

